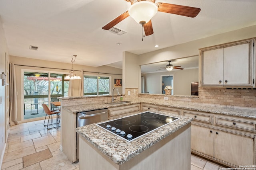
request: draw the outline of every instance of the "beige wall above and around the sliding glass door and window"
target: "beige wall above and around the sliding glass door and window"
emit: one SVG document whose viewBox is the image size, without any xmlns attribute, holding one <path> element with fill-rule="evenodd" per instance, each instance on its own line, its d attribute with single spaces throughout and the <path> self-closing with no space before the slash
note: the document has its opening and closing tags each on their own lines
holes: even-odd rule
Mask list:
<svg viewBox="0 0 256 170">
<path fill-rule="evenodd" d="M 44 70 L 44 71 L 51 71 L 51 72 L 61 72 L 66 74 L 68 70 L 71 69 L 71 63 L 58 63 L 52 61 L 44 61 L 38 59 L 31 59 L 25 57 L 17 57 L 17 56 L 10 56 L 10 63 L 14 63 L 15 65 L 15 73 L 16 73 L 16 84 L 22 84 L 22 69 L 30 69 L 30 70 Z M 19 66 L 19 65 L 28 65 L 28 66 Z M 48 67 L 48 68 L 38 68 L 38 67 Z M 56 69 L 55 69 L 56 68 Z M 57 69 L 58 68 L 58 69 Z M 111 76 L 111 87 L 110 90 L 112 92 L 112 88 L 114 88 L 114 79 L 122 79 L 122 69 L 114 68 L 110 66 L 99 66 L 99 67 L 92 67 L 92 66 L 83 66 L 78 64 L 73 64 L 74 70 L 84 70 L 84 74 L 94 74 L 94 75 L 110 75 Z M 62 70 L 63 69 L 63 70 Z M 106 73 L 106 74 L 103 74 Z M 120 74 L 120 75 L 117 75 Z M 122 88 L 118 88 L 119 92 L 122 93 Z M 18 94 L 18 121 L 23 120 L 23 89 L 22 86 L 18 86 L 17 88 Z"/>
</svg>

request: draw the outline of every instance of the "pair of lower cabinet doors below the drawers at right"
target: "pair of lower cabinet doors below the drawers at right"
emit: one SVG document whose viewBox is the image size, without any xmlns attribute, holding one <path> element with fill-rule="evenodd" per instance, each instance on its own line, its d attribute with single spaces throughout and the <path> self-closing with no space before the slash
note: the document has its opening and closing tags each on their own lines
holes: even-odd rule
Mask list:
<svg viewBox="0 0 256 170">
<path fill-rule="evenodd" d="M 255 165 L 255 140 L 247 133 L 191 125 L 191 151 L 230 167 Z"/>
</svg>

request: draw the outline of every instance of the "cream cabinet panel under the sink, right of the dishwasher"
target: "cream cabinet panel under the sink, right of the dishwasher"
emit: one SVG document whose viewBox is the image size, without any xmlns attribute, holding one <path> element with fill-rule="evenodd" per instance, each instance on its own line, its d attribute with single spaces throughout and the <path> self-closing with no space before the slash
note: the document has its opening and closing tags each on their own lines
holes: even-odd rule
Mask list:
<svg viewBox="0 0 256 170">
<path fill-rule="evenodd" d="M 123 117 L 126 115 L 140 113 L 140 104 L 132 104 L 126 106 L 108 108 L 108 119 Z"/>
</svg>

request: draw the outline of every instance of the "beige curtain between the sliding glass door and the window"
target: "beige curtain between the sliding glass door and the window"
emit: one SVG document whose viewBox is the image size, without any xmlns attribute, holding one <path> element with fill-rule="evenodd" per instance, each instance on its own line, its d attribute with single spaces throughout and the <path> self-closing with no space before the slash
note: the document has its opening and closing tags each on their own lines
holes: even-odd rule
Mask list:
<svg viewBox="0 0 256 170">
<path fill-rule="evenodd" d="M 84 96 L 84 70 L 78 74 L 81 79 L 69 80 L 68 97 Z"/>
</svg>

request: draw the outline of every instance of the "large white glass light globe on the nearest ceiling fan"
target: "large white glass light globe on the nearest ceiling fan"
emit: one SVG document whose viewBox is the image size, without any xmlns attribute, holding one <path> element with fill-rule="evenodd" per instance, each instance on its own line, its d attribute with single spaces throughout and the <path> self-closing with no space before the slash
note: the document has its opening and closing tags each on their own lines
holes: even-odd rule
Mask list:
<svg viewBox="0 0 256 170">
<path fill-rule="evenodd" d="M 147 23 L 152 19 L 153 16 L 156 15 L 157 6 L 153 2 L 149 1 L 140 1 L 132 4 L 129 8 L 129 15 L 137 22 L 137 23 Z"/>
</svg>

